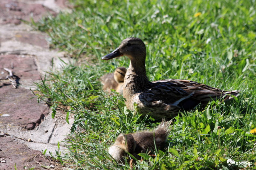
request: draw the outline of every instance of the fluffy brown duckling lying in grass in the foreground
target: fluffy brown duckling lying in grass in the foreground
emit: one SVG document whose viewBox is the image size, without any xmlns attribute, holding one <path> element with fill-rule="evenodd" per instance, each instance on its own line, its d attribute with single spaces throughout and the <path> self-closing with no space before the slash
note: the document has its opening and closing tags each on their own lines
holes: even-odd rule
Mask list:
<svg viewBox="0 0 256 170">
<path fill-rule="evenodd" d="M 154 154 L 155 144 L 156 148 L 164 150 L 167 137 L 170 133 L 171 121 L 165 122 L 162 120 L 161 124 L 153 131 L 141 131 L 131 134 L 120 134 L 116 138 L 108 153 L 118 162 L 124 162 L 124 156 L 129 152 L 136 159 L 140 160 L 141 157 L 138 153 Z"/>
</svg>

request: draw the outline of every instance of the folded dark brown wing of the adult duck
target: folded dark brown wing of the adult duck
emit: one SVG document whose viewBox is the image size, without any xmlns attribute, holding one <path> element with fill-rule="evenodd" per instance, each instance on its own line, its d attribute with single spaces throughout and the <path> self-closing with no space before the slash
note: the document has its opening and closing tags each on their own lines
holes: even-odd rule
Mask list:
<svg viewBox="0 0 256 170">
<path fill-rule="evenodd" d="M 158 80 L 139 95 L 140 101 L 152 108 L 162 107 L 164 110 L 190 110 L 200 104 L 219 99 L 227 95 L 227 91 L 196 83 L 189 80 Z M 230 93 L 230 92 L 229 92 Z"/>
</svg>

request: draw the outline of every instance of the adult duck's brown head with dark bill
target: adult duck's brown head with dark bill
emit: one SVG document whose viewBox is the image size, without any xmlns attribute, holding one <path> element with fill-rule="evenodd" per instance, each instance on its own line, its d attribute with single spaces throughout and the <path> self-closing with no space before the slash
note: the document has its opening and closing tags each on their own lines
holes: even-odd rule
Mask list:
<svg viewBox="0 0 256 170">
<path fill-rule="evenodd" d="M 118 48 L 112 53 L 101 57 L 101 60 L 110 60 L 112 58 L 127 56 L 132 59 L 144 59 L 146 58 L 146 46 L 139 38 L 131 37 L 124 39 Z"/>
</svg>

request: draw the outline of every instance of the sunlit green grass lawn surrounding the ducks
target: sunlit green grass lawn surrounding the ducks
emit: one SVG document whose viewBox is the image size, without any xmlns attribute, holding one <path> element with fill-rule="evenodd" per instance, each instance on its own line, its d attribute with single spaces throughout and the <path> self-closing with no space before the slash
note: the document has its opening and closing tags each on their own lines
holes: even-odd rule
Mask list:
<svg viewBox="0 0 256 170">
<path fill-rule="evenodd" d="M 127 68 L 129 60 L 100 58 L 133 36 L 146 44 L 149 80 L 189 79 L 223 90 L 241 90 L 229 104 L 211 102 L 204 111 L 175 117 L 165 152 L 156 150 L 155 159 L 144 156 L 133 169 L 246 167 L 229 166 L 227 159 L 250 161 L 253 165 L 248 168 L 256 169 L 256 136 L 249 133 L 256 128 L 254 0 L 71 3 L 75 7 L 71 14 L 49 16 L 35 25 L 49 33 L 52 48 L 67 51 L 76 61 L 37 83 L 38 96 L 49 98 L 53 111 L 71 106 L 68 114 L 75 114 L 66 141 L 70 153 L 58 157 L 68 168 L 130 169 L 129 162 L 118 165 L 112 160 L 109 146 L 120 133 L 159 124 L 150 116 L 142 119 L 127 110 L 117 93 L 108 96 L 101 90 L 100 76 L 118 66 Z"/>
</svg>

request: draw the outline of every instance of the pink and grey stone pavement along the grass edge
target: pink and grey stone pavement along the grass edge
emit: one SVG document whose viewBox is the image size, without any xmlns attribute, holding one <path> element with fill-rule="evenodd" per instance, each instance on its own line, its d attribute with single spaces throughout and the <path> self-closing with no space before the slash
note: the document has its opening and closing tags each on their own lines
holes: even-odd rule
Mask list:
<svg viewBox="0 0 256 170">
<path fill-rule="evenodd" d="M 61 68 L 58 57 L 65 62 L 68 58 L 64 53 L 50 50 L 48 36 L 34 31 L 22 20 L 30 22 L 33 16 L 37 22 L 48 13 L 56 15 L 67 9 L 66 3 L 66 0 L 0 1 L 0 169 L 14 169 L 15 164 L 17 169 L 64 168 L 45 158 L 41 150 L 55 154 L 57 143 L 69 133 L 73 118 L 70 116 L 70 124 L 65 113 L 57 113 L 52 119 L 51 109 L 43 102 L 37 103 L 29 88 L 35 89 L 33 81 L 40 81 L 44 71 Z M 10 72 L 13 76 L 5 79 Z M 67 150 L 61 145 L 64 154 Z"/>
</svg>

